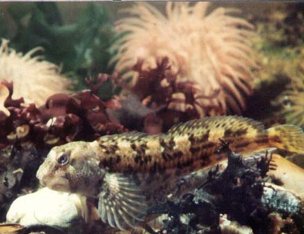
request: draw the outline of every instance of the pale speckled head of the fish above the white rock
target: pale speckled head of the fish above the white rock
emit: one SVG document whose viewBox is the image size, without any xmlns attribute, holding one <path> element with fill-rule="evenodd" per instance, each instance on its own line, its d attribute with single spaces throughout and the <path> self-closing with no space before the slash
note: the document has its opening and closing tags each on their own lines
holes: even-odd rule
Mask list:
<svg viewBox="0 0 304 234">
<path fill-rule="evenodd" d="M 91 195 L 104 174 L 88 142 L 70 142 L 50 150 L 37 171 L 37 178 L 42 185 L 56 191 Z"/>
</svg>

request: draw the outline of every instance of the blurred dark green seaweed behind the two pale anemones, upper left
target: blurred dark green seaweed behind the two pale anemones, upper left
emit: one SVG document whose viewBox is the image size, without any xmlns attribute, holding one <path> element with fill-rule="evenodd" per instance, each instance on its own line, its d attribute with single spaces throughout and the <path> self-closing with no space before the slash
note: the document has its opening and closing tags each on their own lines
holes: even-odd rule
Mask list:
<svg viewBox="0 0 304 234">
<path fill-rule="evenodd" d="M 87 3 L 70 24 L 63 23 L 55 2 L 10 3 L 8 12 L 17 30 L 9 35 L 0 18 L 0 37 L 10 39 L 10 46 L 21 52 L 42 46 L 46 60 L 62 66 L 62 72 L 77 81 L 77 90 L 85 88 L 85 77 L 111 72 L 107 65 L 114 30 L 102 4 Z"/>
</svg>

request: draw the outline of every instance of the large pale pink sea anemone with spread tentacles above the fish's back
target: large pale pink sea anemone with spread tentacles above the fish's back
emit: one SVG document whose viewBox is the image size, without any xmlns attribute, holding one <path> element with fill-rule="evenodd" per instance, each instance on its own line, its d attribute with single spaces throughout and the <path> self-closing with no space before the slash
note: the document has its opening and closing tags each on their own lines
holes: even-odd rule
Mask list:
<svg viewBox="0 0 304 234">
<path fill-rule="evenodd" d="M 250 37 L 254 27 L 229 15 L 235 9 L 217 8 L 207 14 L 208 6 L 208 2 L 168 2 L 167 16 L 148 3 L 126 9 L 132 16 L 116 24 L 122 37 L 113 45 L 115 70 L 124 81 L 132 77 L 135 85 L 138 72 L 131 68 L 137 61 L 143 61 L 143 69 L 151 69 L 168 57 L 178 81 L 193 83 L 200 117 L 241 113 L 253 88 L 251 70 L 256 61 Z"/>
</svg>

